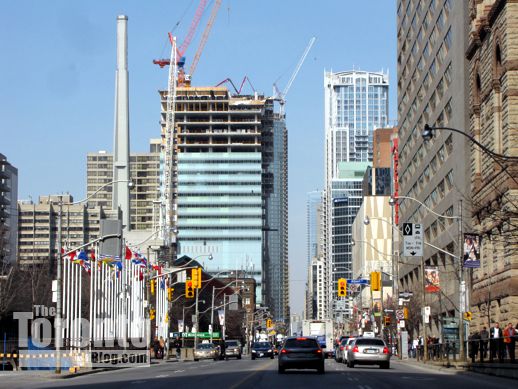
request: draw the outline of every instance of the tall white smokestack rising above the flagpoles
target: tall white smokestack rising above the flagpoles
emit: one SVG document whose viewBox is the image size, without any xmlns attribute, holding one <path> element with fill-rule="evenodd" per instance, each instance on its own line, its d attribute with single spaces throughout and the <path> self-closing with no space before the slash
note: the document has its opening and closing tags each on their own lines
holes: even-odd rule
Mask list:
<svg viewBox="0 0 518 389">
<path fill-rule="evenodd" d="M 129 197 L 129 98 L 128 98 L 128 17 L 117 16 L 117 71 L 115 73 L 115 126 L 113 140 L 112 208 L 122 210 L 122 224 L 130 230 Z"/>
</svg>

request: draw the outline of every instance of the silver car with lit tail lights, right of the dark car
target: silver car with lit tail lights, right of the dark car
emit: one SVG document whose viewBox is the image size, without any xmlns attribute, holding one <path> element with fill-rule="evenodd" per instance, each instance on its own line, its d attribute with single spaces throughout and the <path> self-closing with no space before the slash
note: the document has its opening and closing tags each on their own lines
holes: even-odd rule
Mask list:
<svg viewBox="0 0 518 389">
<path fill-rule="evenodd" d="M 356 338 L 347 350 L 347 366 L 379 365 L 382 369 L 390 368 L 390 350 L 380 338 Z"/>
</svg>

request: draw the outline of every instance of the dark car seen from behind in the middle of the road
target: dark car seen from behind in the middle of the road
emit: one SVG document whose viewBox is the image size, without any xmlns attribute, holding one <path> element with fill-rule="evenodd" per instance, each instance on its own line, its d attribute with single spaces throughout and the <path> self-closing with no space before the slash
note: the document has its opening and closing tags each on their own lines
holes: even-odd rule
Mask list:
<svg viewBox="0 0 518 389">
<path fill-rule="evenodd" d="M 316 338 L 287 338 L 279 352 L 278 371 L 283 374 L 286 369 L 316 369 L 325 373 L 325 356 Z"/>
</svg>

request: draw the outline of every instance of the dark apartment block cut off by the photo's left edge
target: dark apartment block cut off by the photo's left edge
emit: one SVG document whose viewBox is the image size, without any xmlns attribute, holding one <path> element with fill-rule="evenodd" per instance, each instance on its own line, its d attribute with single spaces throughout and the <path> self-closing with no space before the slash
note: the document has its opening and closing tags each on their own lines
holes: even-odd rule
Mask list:
<svg viewBox="0 0 518 389">
<path fill-rule="evenodd" d="M 18 243 L 18 169 L 0 154 L 0 265 L 16 262 Z M 3 269 L 3 266 L 2 266 Z M 2 271 L 0 269 L 0 272 Z"/>
</svg>

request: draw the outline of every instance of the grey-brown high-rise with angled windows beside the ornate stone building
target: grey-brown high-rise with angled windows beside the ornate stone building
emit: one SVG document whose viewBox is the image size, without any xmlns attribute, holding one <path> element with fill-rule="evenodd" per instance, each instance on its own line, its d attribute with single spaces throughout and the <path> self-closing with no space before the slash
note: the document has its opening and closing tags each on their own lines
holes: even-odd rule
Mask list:
<svg viewBox="0 0 518 389">
<path fill-rule="evenodd" d="M 469 215 L 469 144 L 465 137 L 449 131 L 436 131 L 430 142 L 421 137 L 425 124 L 467 128 L 467 49 L 468 8 L 465 1 L 398 1 L 398 124 L 399 195 L 419 200 L 434 212 Z M 458 316 L 458 225 L 454 219 L 437 218 L 419 202 L 399 201 L 399 222 L 423 225 L 424 240 L 440 250 L 426 246 L 425 266 L 438 267 L 441 295 L 428 293 L 425 305 L 432 318 L 427 335 L 441 336 L 442 317 Z M 469 218 L 463 218 L 469 230 Z M 450 253 L 450 254 L 445 254 Z M 399 286 L 422 296 L 419 266 L 402 258 Z M 418 309 L 418 308 L 416 308 Z M 421 317 L 420 313 L 415 313 Z M 409 328 L 412 336 L 422 335 L 423 324 Z"/>
</svg>

